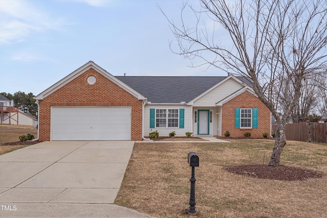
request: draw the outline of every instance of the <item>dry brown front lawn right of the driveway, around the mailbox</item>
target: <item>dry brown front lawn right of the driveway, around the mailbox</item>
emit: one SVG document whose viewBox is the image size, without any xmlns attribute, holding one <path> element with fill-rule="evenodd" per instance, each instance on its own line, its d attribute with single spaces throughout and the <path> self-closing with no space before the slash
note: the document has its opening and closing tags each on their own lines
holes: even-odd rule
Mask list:
<svg viewBox="0 0 327 218">
<path fill-rule="evenodd" d="M 268 164 L 273 140 L 230 141 L 135 144 L 115 204 L 156 217 L 188 217 L 187 155 L 193 151 L 200 159 L 195 169 L 198 217 L 327 217 L 327 144 L 288 141 L 281 164 L 314 169 L 323 177 L 278 181 L 225 170 L 232 165 Z"/>
</svg>

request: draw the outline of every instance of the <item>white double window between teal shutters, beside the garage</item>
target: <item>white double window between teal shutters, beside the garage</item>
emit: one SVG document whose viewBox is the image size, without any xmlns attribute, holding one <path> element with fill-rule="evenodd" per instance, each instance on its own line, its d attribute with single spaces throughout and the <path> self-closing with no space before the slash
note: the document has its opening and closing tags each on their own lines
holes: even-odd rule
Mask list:
<svg viewBox="0 0 327 218">
<path fill-rule="evenodd" d="M 155 117 L 155 127 L 178 127 L 178 109 L 156 109 Z"/>
</svg>

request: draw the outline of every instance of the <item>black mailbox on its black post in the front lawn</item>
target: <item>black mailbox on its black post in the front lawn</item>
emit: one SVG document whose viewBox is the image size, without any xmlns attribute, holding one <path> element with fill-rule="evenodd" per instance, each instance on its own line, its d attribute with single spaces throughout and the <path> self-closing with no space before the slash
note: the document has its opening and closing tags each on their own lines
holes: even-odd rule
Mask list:
<svg viewBox="0 0 327 218">
<path fill-rule="evenodd" d="M 189 153 L 189 157 L 188 157 L 188 162 L 190 164 L 190 166 L 192 166 L 192 175 L 191 175 L 191 194 L 190 194 L 190 209 L 188 210 L 188 213 L 190 215 L 196 215 L 197 212 L 195 210 L 195 170 L 194 167 L 195 166 L 199 166 L 199 157 L 194 153 L 194 152 L 190 152 Z"/>
</svg>

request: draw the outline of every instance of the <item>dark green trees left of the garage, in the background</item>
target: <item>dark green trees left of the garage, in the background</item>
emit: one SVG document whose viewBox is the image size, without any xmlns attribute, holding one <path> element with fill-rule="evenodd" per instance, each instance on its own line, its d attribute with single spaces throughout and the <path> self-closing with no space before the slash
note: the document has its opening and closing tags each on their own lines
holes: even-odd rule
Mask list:
<svg viewBox="0 0 327 218">
<path fill-rule="evenodd" d="M 34 99 L 35 95 L 32 92 L 25 94 L 25 92 L 17 91 L 13 95 L 11 93 L 1 92 L 7 99 L 14 101 L 14 106 L 19 110 L 31 113 L 37 118 L 37 104 Z"/>
</svg>

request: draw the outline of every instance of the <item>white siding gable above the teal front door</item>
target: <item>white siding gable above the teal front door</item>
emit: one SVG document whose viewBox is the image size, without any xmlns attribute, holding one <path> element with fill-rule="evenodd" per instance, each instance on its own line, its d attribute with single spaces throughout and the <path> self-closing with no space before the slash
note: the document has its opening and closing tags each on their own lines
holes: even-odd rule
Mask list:
<svg viewBox="0 0 327 218">
<path fill-rule="evenodd" d="M 200 99 L 196 100 L 193 104 L 194 107 L 214 107 L 216 103 L 223 100 L 231 93 L 236 92 L 243 86 L 233 79 L 229 79 L 218 87 L 209 91 L 208 93 L 201 96 Z"/>
</svg>

